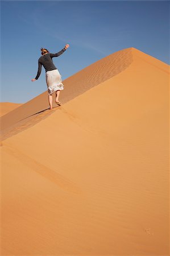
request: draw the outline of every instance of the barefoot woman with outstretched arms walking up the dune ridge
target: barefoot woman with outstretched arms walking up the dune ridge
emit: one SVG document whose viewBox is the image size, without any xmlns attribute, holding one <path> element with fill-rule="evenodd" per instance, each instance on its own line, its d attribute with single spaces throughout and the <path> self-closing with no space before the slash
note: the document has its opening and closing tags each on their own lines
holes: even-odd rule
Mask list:
<svg viewBox="0 0 170 256">
<path fill-rule="evenodd" d="M 45 68 L 45 79 L 48 88 L 48 101 L 49 101 L 49 109 L 52 109 L 52 94 L 56 92 L 56 104 L 61 105 L 59 101 L 60 90 L 64 89 L 64 85 L 61 80 L 61 75 L 58 69 L 53 64 L 52 58 L 60 56 L 65 50 L 69 47 L 69 44 L 61 49 L 60 52 L 57 53 L 49 53 L 49 51 L 45 48 L 41 48 L 42 56 L 38 60 L 38 72 L 35 79 L 31 81 L 34 82 L 38 80 L 40 73 L 42 72 L 42 65 Z"/>
</svg>

